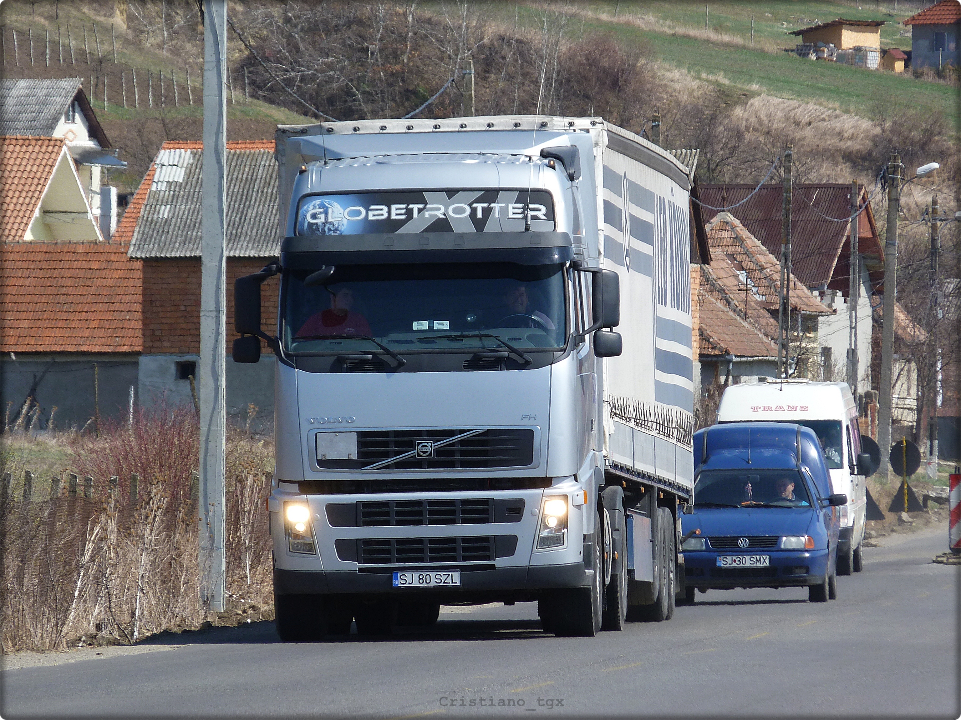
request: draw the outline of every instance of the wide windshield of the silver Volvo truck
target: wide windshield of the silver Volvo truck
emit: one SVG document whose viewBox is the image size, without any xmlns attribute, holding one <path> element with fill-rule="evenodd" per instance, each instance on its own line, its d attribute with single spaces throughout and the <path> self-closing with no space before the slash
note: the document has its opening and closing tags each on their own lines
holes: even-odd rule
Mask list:
<svg viewBox="0 0 961 720">
<path fill-rule="evenodd" d="M 341 265 L 324 285 L 311 270 L 283 275 L 282 335 L 289 352 L 398 353 L 563 347 L 563 265 L 513 263 Z M 494 337 L 491 337 L 494 336 Z"/>
</svg>

